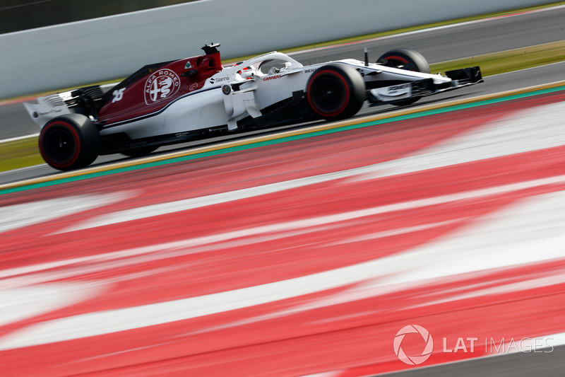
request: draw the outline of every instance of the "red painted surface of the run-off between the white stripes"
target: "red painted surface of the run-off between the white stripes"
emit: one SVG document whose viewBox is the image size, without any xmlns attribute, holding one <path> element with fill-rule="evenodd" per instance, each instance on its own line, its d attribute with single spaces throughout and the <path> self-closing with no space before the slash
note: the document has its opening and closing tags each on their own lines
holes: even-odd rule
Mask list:
<svg viewBox="0 0 565 377">
<path fill-rule="evenodd" d="M 393 161 L 520 108 L 554 103 L 561 97 L 545 95 L 4 195 L 0 197 L 1 206 L 76 192 L 136 192 L 118 204 L 2 233 L 0 273 L 564 175 L 565 147 L 558 146 L 371 180 L 320 182 L 210 207 L 54 234 L 111 211 Z M 312 220 L 308 226 L 25 272 L 0 279 L 0 283 L 8 288 L 16 284 L 44 287 L 46 292 L 49 283 L 97 284 L 104 290 L 83 302 L 1 325 L 0 344 L 6 335 L 31 330 L 33 325 L 49 320 L 230 291 L 399 255 L 480 223 L 483 216 L 497 214 L 524 199 L 563 190 L 563 183 L 536 185 L 486 197 L 343 221 L 319 220 L 316 224 Z M 383 232 L 391 233 L 387 236 Z M 549 260 L 427 280 L 419 286 L 395 286 L 388 294 L 368 296 L 362 294 L 367 293 L 371 282 L 347 284 L 188 320 L 1 351 L 0 363 L 8 376 L 214 376 L 226 372 L 288 376 L 332 370 L 358 376 L 408 369 L 396 358 L 393 339 L 400 328 L 415 323 L 426 327 L 436 342 L 434 353 L 424 364 L 430 366 L 485 354 L 479 352 L 484 342 L 478 341 L 477 352 L 472 354 L 441 352 L 443 337 L 453 347 L 458 337 L 492 337 L 499 342 L 504 337 L 563 332 L 559 313 L 565 305 L 565 284 L 558 278 L 564 268 L 564 260 Z M 556 279 L 556 283 L 481 294 L 539 279 Z M 339 300 L 351 294 L 360 296 Z M 335 303 L 329 305 L 328 300 Z M 307 306 L 311 308 L 302 310 Z M 417 352 L 417 347 L 407 346 L 407 351 Z"/>
</svg>

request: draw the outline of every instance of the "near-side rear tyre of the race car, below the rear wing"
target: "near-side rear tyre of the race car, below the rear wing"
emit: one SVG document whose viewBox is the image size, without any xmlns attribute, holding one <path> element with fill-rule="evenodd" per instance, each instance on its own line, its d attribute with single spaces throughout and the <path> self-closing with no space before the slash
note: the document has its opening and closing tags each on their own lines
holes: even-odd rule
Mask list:
<svg viewBox="0 0 565 377">
<path fill-rule="evenodd" d="M 50 166 L 73 170 L 95 161 L 100 151 L 100 133 L 84 115 L 62 115 L 45 124 L 39 144 L 41 156 Z"/>
</svg>

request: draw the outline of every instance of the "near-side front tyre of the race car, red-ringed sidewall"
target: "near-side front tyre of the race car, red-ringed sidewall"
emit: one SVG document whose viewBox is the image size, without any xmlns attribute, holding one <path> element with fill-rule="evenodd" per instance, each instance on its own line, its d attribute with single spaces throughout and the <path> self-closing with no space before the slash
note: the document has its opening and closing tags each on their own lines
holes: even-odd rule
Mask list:
<svg viewBox="0 0 565 377">
<path fill-rule="evenodd" d="M 365 100 L 361 74 L 344 64 L 328 64 L 314 71 L 306 91 L 310 108 L 327 120 L 357 114 Z"/>
</svg>

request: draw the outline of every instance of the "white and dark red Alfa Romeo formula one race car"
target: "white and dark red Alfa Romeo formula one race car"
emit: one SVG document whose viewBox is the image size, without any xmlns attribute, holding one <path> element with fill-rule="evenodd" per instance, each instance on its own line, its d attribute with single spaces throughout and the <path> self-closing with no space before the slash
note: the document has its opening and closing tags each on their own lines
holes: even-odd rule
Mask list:
<svg viewBox="0 0 565 377">
<path fill-rule="evenodd" d="M 121 83 L 88 86 L 25 103 L 41 127 L 50 166 L 82 168 L 100 154 L 144 156 L 157 147 L 259 127 L 343 120 L 371 104 L 408 105 L 424 95 L 482 82 L 478 66 L 430 74 L 422 55 L 397 49 L 375 64 L 344 59 L 303 66 L 270 52 L 223 67 L 219 44 L 204 55 L 150 64 Z"/>
</svg>

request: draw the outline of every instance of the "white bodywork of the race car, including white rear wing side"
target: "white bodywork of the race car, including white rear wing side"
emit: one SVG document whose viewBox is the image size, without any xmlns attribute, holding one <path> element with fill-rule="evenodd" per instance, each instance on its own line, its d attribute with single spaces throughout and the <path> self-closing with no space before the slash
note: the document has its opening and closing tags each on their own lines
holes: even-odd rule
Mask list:
<svg viewBox="0 0 565 377">
<path fill-rule="evenodd" d="M 266 71 L 263 62 L 279 62 L 279 69 Z M 455 80 L 439 74 L 425 74 L 416 71 L 365 64 L 355 59 L 343 59 L 331 64 L 346 64 L 359 71 L 365 83 L 371 81 L 419 81 L 432 79 L 434 83 L 451 83 Z M 237 121 L 244 117 L 260 117 L 262 110 L 270 105 L 291 98 L 292 93 L 306 93 L 311 74 L 328 63 L 303 66 L 295 59 L 280 52 L 270 52 L 254 57 L 234 66 L 225 67 L 206 81 L 203 88 L 188 93 L 169 103 L 164 110 L 139 120 L 123 124 L 105 124 L 102 136 L 123 132 L 131 139 L 156 137 L 163 134 L 178 134 L 198 129 L 210 129 L 227 124 L 228 129 L 237 129 Z M 232 89 L 233 88 L 233 89 Z M 394 101 L 410 98 L 410 84 L 387 86 L 368 91 L 376 101 Z M 38 98 L 37 104 L 26 103 L 25 108 L 40 126 L 53 117 L 68 113 L 64 105 L 69 92 Z M 95 121 L 95 119 L 93 119 Z"/>
</svg>

